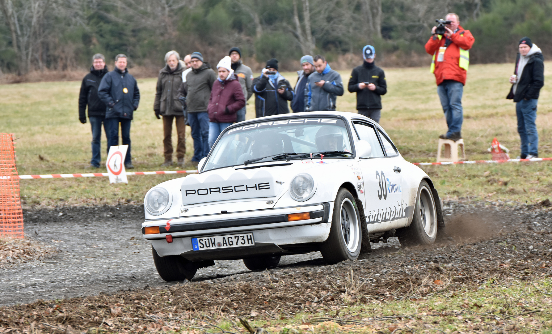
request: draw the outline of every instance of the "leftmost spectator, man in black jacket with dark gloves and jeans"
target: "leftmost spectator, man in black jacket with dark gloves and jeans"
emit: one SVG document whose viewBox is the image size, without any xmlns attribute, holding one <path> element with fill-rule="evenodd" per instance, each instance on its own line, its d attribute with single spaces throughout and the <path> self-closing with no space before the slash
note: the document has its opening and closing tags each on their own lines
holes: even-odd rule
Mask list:
<svg viewBox="0 0 552 334">
<path fill-rule="evenodd" d="M 88 119 L 90 119 L 92 127 L 91 168 L 99 168 L 100 161 L 102 160 L 100 155 L 102 123 L 104 125 L 105 138 L 108 137 L 107 124 L 105 123 L 105 103 L 98 97 L 98 86 L 107 72 L 104 55 L 100 53 L 95 54 L 92 57 L 90 73 L 82 79 L 81 93 L 78 96 L 78 119 L 82 124 L 86 123 L 86 106 L 88 105 Z"/>
</svg>

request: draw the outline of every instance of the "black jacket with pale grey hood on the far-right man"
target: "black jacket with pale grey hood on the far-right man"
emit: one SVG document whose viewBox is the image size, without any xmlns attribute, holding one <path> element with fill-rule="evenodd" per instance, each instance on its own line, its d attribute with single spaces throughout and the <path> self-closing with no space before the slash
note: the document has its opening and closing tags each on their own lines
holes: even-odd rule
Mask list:
<svg viewBox="0 0 552 334">
<path fill-rule="evenodd" d="M 510 92 L 506 97 L 508 100 L 519 102 L 523 99 L 530 100 L 539 98 L 540 88 L 544 86 L 544 57 L 537 45 L 533 44 L 527 56 L 527 64 L 523 67 L 521 75 L 518 73 L 518 64 L 521 55 L 518 53 L 516 58 L 516 67 L 514 74 L 518 76 L 516 91 L 515 84 L 510 88 Z"/>
</svg>

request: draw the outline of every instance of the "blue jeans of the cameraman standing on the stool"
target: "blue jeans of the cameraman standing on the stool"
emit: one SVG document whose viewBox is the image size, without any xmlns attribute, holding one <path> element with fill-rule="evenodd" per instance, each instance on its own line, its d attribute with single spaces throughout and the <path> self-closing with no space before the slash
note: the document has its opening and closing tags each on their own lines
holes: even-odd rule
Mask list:
<svg viewBox="0 0 552 334">
<path fill-rule="evenodd" d="M 454 134 L 460 134 L 462 129 L 462 121 L 464 120 L 462 111 L 462 93 L 464 91 L 464 85 L 461 82 L 454 80 L 445 80 L 439 86 L 437 86 L 437 93 L 441 105 L 443 106 L 443 112 L 447 119 L 447 137 L 451 137 Z"/>
</svg>

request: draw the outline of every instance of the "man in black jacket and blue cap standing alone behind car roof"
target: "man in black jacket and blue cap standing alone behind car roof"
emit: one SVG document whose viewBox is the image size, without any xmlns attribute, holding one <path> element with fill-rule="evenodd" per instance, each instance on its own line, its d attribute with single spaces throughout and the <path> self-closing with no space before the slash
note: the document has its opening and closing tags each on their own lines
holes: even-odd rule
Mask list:
<svg viewBox="0 0 552 334">
<path fill-rule="evenodd" d="M 374 46 L 366 45 L 362 49 L 364 63 L 351 72 L 349 92 L 357 92 L 357 110 L 359 114 L 379 123 L 381 116 L 381 95 L 387 92 L 385 73 L 374 64 L 376 57 Z"/>
</svg>

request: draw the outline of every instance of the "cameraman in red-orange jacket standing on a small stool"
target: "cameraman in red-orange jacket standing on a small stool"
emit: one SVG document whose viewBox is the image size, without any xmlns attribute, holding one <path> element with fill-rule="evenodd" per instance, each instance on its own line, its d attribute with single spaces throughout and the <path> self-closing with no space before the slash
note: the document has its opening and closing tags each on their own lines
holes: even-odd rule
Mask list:
<svg viewBox="0 0 552 334">
<path fill-rule="evenodd" d="M 475 39 L 470 30 L 460 26 L 457 14 L 449 13 L 445 20 L 450 20 L 450 24 L 445 26 L 446 32 L 439 35 L 437 27 L 433 27 L 432 36 L 426 43 L 426 52 L 433 55 L 431 72 L 435 74 L 437 93 L 447 119 L 448 131 L 439 138 L 456 141 L 462 138 L 462 93 L 470 63 L 469 49 Z"/>
</svg>

